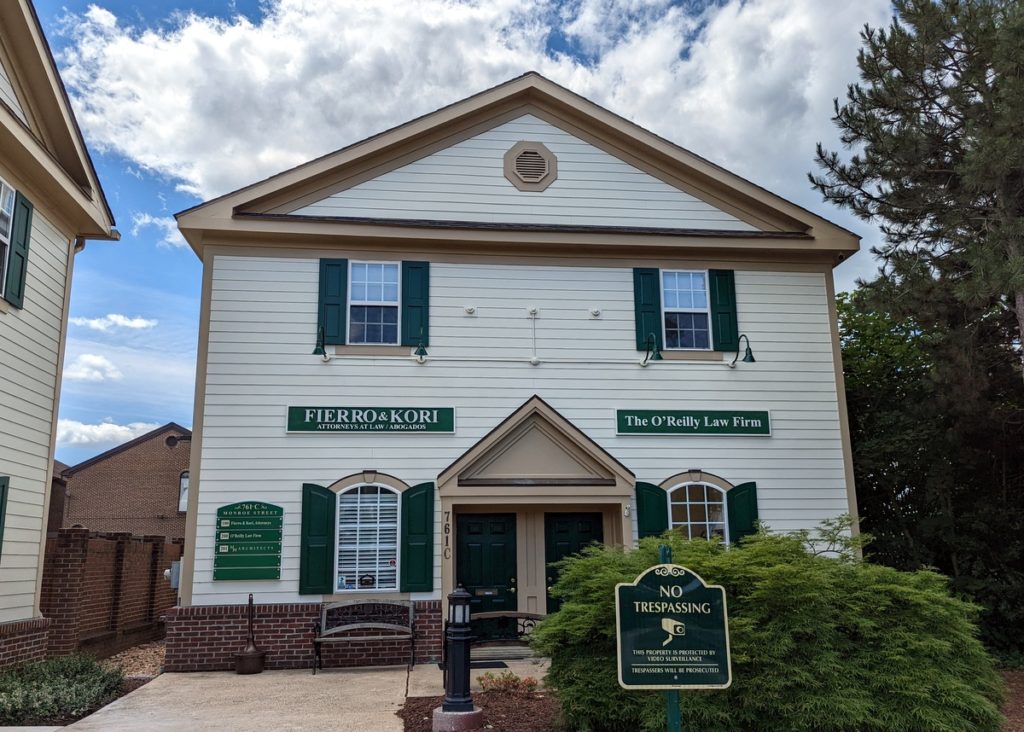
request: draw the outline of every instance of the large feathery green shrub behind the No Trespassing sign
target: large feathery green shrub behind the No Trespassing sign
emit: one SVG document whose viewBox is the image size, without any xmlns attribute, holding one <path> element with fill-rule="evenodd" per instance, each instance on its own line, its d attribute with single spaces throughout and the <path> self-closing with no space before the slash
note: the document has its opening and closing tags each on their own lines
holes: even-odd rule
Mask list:
<svg viewBox="0 0 1024 732">
<path fill-rule="evenodd" d="M 1002 685 L 977 638 L 978 608 L 934 572 L 818 556 L 806 536 L 737 547 L 645 539 L 564 560 L 561 610 L 534 634 L 564 722 L 585 732 L 665 729 L 659 692 L 626 691 L 615 668 L 614 587 L 673 561 L 726 590 L 733 683 L 681 692 L 685 730 L 997 732 Z"/>
</svg>

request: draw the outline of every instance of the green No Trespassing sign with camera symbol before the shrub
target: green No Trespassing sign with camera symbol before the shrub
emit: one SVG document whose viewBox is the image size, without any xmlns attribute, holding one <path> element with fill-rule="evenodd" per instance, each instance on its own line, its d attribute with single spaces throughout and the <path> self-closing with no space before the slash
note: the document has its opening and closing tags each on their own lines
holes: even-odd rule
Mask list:
<svg viewBox="0 0 1024 732">
<path fill-rule="evenodd" d="M 725 589 L 657 564 L 615 586 L 618 684 L 626 689 L 725 689 L 732 684 Z"/>
</svg>

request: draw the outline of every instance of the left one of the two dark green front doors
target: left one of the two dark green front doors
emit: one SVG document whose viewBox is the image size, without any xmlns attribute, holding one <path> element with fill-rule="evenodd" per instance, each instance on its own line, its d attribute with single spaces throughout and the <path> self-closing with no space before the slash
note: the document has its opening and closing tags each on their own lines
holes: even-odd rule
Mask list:
<svg viewBox="0 0 1024 732">
<path fill-rule="evenodd" d="M 455 525 L 456 582 L 473 596 L 470 612 L 515 612 L 515 514 L 463 514 Z M 506 625 L 474 622 L 473 630 L 492 637 Z"/>
</svg>

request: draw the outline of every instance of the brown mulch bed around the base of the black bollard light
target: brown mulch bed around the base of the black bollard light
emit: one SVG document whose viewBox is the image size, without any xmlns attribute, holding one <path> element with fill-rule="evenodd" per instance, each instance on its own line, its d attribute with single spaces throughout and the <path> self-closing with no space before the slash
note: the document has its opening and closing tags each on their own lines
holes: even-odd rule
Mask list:
<svg viewBox="0 0 1024 732">
<path fill-rule="evenodd" d="M 434 709 L 443 696 L 411 696 L 395 714 L 406 723 L 406 732 L 431 732 Z M 514 695 L 478 691 L 473 701 L 483 709 L 483 729 L 494 732 L 555 732 L 558 700 L 548 692 Z"/>
</svg>

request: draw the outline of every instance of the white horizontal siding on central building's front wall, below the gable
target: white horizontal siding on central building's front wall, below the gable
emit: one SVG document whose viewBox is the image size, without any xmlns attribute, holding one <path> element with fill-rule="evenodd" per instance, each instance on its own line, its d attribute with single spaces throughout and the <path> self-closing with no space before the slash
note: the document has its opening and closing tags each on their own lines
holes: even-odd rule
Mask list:
<svg viewBox="0 0 1024 732">
<path fill-rule="evenodd" d="M 324 256 L 341 256 L 325 252 Z M 629 268 L 431 263 L 430 357 L 310 355 L 315 259 L 217 256 L 199 490 L 194 604 L 309 601 L 298 590 L 301 484 L 373 467 L 435 480 L 539 394 L 636 473 L 660 482 L 702 468 L 758 482 L 775 530 L 847 511 L 825 275 L 736 271 L 739 328 L 756 364 L 663 361 L 641 369 Z M 475 316 L 465 313 L 477 308 Z M 537 352 L 527 306 L 540 308 Z M 591 308 L 601 316 L 592 318 Z M 451 358 L 453 360 L 442 360 Z M 487 360 L 505 358 L 508 360 Z M 566 362 L 555 362 L 555 359 Z M 456 434 L 285 433 L 288 405 L 455 406 Z M 614 410 L 770 410 L 771 437 L 616 436 Z M 243 500 L 285 509 L 282 580 L 213 583 L 214 515 Z M 440 503 L 436 502 L 440 536 Z M 440 587 L 435 552 L 435 589 Z"/>
</svg>

